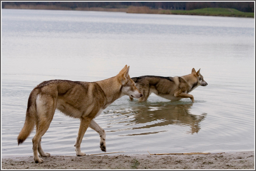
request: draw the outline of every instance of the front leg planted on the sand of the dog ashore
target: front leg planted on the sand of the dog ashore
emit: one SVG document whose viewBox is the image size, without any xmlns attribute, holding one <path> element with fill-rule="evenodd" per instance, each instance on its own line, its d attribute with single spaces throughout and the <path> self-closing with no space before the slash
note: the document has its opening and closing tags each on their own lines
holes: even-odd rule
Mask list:
<svg viewBox="0 0 256 171">
<path fill-rule="evenodd" d="M 87 128 L 89 127 L 91 122 L 91 118 L 85 117 L 85 118 L 81 118 L 80 119 L 80 127 L 78 130 L 78 134 L 77 134 L 77 138 L 76 138 L 76 143 L 75 143 L 75 150 L 76 150 L 76 155 L 77 156 L 82 156 L 82 155 L 86 155 L 85 153 L 81 152 L 80 149 L 80 145 L 83 139 L 83 135 L 85 135 L 85 132 L 87 130 Z"/>
</svg>

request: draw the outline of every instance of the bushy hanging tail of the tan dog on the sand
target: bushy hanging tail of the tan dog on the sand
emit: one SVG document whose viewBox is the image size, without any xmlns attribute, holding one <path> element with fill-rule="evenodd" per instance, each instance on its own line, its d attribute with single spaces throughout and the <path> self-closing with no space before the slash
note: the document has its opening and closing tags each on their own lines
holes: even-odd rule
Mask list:
<svg viewBox="0 0 256 171">
<path fill-rule="evenodd" d="M 28 106 L 26 112 L 26 120 L 21 132 L 18 135 L 18 145 L 23 143 L 32 132 L 36 124 L 36 98 L 38 90 L 33 89 L 28 98 Z"/>
</svg>

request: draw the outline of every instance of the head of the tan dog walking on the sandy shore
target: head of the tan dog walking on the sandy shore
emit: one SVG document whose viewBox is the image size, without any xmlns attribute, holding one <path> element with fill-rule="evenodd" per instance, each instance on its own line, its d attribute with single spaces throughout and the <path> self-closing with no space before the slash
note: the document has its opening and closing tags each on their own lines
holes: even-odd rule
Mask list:
<svg viewBox="0 0 256 171">
<path fill-rule="evenodd" d="M 119 83 L 122 85 L 121 92 L 124 95 L 129 95 L 132 98 L 140 98 L 142 97 L 141 92 L 139 89 L 136 88 L 134 81 L 129 76 L 129 69 L 130 66 L 127 65 L 122 68 L 122 70 L 117 74 L 117 79 Z"/>
</svg>

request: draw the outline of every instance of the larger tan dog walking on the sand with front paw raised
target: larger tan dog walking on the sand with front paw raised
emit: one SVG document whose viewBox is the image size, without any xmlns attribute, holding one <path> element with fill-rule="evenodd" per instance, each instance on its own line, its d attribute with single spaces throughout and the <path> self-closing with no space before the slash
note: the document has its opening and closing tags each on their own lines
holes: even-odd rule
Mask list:
<svg viewBox="0 0 256 171">
<path fill-rule="evenodd" d="M 88 127 L 100 134 L 100 147 L 106 152 L 106 134 L 94 120 L 107 106 L 122 95 L 140 98 L 142 94 L 135 87 L 129 76 L 127 65 L 115 77 L 97 82 L 73 82 L 67 80 L 45 81 L 35 87 L 29 95 L 26 120 L 18 135 L 18 144 L 32 132 L 36 125 L 36 134 L 33 137 L 33 158 L 36 163 L 42 163 L 38 157 L 50 157 L 43 152 L 41 137 L 50 126 L 55 109 L 57 108 L 69 117 L 80 119 L 80 128 L 75 143 L 76 155 L 86 155 L 80 150 L 83 135 Z"/>
</svg>

